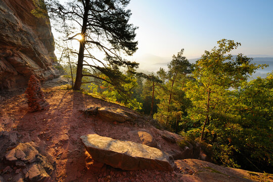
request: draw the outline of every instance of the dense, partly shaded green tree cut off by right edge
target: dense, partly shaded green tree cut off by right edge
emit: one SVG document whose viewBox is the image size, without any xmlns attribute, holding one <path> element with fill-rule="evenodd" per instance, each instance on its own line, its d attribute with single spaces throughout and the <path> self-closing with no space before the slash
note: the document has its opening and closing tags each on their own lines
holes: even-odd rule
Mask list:
<svg viewBox="0 0 273 182">
<path fill-rule="evenodd" d="M 236 149 L 232 158 L 248 170 L 272 173 L 273 73 L 242 83 L 234 96 L 239 129 L 229 135 L 230 145 Z"/>
</svg>

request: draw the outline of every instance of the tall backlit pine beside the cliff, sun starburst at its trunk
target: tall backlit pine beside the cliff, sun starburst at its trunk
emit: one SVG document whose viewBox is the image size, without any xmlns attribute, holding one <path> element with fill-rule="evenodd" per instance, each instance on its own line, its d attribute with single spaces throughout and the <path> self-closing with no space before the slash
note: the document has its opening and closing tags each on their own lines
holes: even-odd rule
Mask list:
<svg viewBox="0 0 273 182">
<path fill-rule="evenodd" d="M 138 63 L 121 57 L 121 52 L 132 55 L 138 44 L 134 41 L 136 27 L 128 23 L 131 13 L 125 9 L 129 0 L 70 0 L 67 3 L 55 0 L 45 0 L 43 3 L 34 0 L 34 2 L 36 5 L 32 12 L 34 15 L 45 17 L 47 9 L 51 20 L 59 26 L 57 30 L 67 36 L 66 40 L 79 41 L 73 89 L 80 89 L 83 76 L 90 76 L 101 82 L 106 81 L 116 89 L 122 88 L 124 80 L 119 68 L 123 66 L 130 70 L 138 67 Z M 104 60 L 92 53 L 94 49 L 104 53 Z M 83 66 L 89 67 L 92 71 L 83 72 Z M 108 79 L 98 77 L 97 73 L 102 73 Z"/>
</svg>

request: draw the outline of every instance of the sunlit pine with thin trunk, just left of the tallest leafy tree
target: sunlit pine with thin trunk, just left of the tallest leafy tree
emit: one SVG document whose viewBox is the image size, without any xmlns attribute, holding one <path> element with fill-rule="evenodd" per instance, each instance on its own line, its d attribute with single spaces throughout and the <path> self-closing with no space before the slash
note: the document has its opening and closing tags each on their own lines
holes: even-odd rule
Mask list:
<svg viewBox="0 0 273 182">
<path fill-rule="evenodd" d="M 160 68 L 157 72 L 160 79 L 163 80 L 161 88 L 158 89 L 159 112 L 155 115 L 161 122 L 165 120 L 165 125 L 172 127 L 169 120 L 175 121 L 175 130 L 184 112 L 181 111 L 185 102 L 184 87 L 187 83 L 187 74 L 191 73 L 191 64 L 183 56 L 184 49 L 173 55 L 172 61 L 168 64 L 168 71 Z M 175 99 L 173 99 L 175 98 Z"/>
</svg>

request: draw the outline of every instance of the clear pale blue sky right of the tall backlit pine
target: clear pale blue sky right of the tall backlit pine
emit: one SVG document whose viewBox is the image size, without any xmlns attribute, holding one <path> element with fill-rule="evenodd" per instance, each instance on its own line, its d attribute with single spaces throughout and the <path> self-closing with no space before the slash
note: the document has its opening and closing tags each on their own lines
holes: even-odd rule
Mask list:
<svg viewBox="0 0 273 182">
<path fill-rule="evenodd" d="M 171 59 L 182 48 L 198 58 L 222 38 L 242 43 L 234 54 L 273 55 L 273 0 L 131 0 L 128 8 L 139 27 L 137 62 Z"/>
</svg>

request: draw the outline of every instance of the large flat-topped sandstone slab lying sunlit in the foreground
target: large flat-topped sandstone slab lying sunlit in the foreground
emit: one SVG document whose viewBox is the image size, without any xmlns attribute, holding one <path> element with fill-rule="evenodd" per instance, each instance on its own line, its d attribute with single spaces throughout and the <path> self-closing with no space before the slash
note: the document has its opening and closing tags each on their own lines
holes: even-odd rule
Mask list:
<svg viewBox="0 0 273 182">
<path fill-rule="evenodd" d="M 159 149 L 129 141 L 87 134 L 80 137 L 93 159 L 123 170 L 173 170 L 171 155 Z"/>
</svg>

